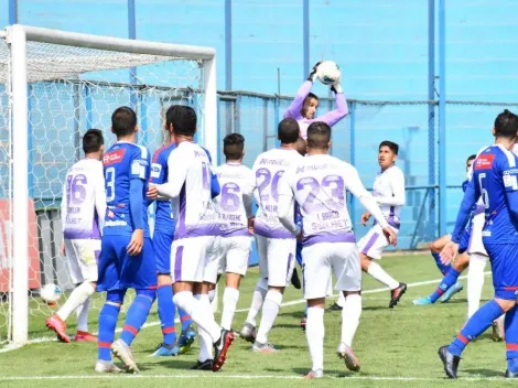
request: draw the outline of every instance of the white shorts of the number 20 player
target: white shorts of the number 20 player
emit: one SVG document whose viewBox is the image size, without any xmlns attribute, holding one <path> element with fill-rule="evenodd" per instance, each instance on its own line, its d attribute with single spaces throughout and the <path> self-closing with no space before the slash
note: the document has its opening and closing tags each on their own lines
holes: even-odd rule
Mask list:
<svg viewBox="0 0 518 388">
<path fill-rule="evenodd" d="M 261 278 L 270 287 L 287 287 L 295 268 L 294 238 L 268 238 L 256 235 Z"/>
</svg>

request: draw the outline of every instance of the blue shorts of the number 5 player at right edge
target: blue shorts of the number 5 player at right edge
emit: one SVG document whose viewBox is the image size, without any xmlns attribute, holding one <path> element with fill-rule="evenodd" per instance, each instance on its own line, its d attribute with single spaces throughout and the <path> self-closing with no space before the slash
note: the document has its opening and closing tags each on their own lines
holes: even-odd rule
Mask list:
<svg viewBox="0 0 518 388">
<path fill-rule="evenodd" d="M 518 244 L 484 244 L 489 255 L 495 298 L 518 299 Z"/>
</svg>

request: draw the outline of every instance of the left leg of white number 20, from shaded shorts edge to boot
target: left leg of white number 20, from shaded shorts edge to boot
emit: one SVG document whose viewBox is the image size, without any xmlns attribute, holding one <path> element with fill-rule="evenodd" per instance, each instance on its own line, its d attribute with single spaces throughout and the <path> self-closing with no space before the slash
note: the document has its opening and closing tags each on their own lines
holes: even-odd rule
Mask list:
<svg viewBox="0 0 518 388">
<path fill-rule="evenodd" d="M 247 320 L 239 333 L 239 336 L 250 343 L 256 341 L 257 336 L 257 315 L 262 309 L 265 297 L 268 292 L 268 239 L 256 235 L 256 247 L 259 256 L 259 279 L 253 290 L 250 310 L 248 310 Z"/>
</svg>

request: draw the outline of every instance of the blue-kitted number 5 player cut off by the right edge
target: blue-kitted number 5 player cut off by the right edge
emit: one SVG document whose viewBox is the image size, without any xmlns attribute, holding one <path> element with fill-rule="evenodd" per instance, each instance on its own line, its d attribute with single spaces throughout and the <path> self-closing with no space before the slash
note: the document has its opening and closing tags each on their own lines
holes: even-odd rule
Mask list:
<svg viewBox="0 0 518 388">
<path fill-rule="evenodd" d="M 471 180 L 457 214 L 452 241 L 441 256 L 454 259 L 470 212 L 482 197 L 486 223 L 483 242 L 493 269 L 495 298 L 466 322 L 447 346 L 439 349 L 447 377 L 457 377 L 461 355 L 466 345 L 506 313 L 506 377 L 518 378 L 518 158 L 511 152 L 518 140 L 518 116 L 504 110 L 493 128 L 495 144 L 483 150 L 474 162 Z"/>
</svg>

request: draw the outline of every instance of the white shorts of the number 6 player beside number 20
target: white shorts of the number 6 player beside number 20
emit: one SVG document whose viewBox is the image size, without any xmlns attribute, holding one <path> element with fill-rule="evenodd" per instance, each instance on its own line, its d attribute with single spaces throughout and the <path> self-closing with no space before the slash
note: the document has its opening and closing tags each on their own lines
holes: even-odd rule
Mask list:
<svg viewBox="0 0 518 388">
<path fill-rule="evenodd" d="M 222 237 L 219 246 L 219 273 L 245 276 L 251 252 L 251 236 Z"/>
</svg>

